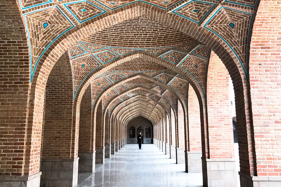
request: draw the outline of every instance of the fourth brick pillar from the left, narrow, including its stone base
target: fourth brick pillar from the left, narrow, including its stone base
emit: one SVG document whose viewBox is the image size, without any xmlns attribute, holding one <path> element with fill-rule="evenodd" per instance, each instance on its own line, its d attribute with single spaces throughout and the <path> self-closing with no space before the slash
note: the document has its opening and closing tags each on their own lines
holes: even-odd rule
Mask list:
<svg viewBox="0 0 281 187">
<path fill-rule="evenodd" d="M 96 164 L 104 163 L 105 147 L 104 147 L 104 122 L 102 102 L 95 109 L 94 124 L 96 126 Z"/>
</svg>

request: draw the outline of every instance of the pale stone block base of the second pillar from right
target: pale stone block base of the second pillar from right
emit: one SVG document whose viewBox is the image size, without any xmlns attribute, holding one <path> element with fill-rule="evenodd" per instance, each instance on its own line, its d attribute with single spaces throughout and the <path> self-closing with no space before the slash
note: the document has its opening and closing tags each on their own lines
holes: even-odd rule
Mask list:
<svg viewBox="0 0 281 187">
<path fill-rule="evenodd" d="M 202 173 L 204 187 L 237 186 L 235 159 L 202 158 Z"/>
</svg>

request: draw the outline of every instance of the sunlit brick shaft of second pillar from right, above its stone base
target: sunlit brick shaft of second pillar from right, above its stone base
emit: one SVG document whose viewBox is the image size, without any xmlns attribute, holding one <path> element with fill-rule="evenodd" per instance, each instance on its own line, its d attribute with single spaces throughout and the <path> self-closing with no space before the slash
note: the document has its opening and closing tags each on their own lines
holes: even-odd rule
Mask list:
<svg viewBox="0 0 281 187">
<path fill-rule="evenodd" d="M 230 107 L 229 74 L 212 51 L 207 77 L 210 158 L 233 158 L 234 140 Z"/>
</svg>

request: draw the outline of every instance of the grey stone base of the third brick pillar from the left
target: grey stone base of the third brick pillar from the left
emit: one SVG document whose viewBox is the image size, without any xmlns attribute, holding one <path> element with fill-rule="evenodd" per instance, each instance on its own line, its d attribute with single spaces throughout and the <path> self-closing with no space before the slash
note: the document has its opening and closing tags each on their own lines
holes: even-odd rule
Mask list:
<svg viewBox="0 0 281 187">
<path fill-rule="evenodd" d="M 78 172 L 95 172 L 96 151 L 78 152 Z"/>
</svg>

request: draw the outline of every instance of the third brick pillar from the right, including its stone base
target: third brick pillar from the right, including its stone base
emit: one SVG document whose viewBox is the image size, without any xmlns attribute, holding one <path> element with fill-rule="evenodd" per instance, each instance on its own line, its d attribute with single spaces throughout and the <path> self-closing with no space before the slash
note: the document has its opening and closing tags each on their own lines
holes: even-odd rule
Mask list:
<svg viewBox="0 0 281 187">
<path fill-rule="evenodd" d="M 194 89 L 190 85 L 188 88 L 189 149 L 185 152 L 185 171 L 202 172 L 200 106 Z"/>
</svg>

